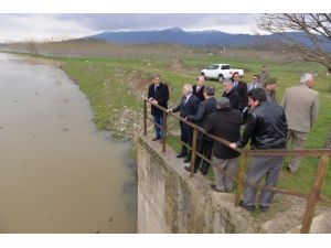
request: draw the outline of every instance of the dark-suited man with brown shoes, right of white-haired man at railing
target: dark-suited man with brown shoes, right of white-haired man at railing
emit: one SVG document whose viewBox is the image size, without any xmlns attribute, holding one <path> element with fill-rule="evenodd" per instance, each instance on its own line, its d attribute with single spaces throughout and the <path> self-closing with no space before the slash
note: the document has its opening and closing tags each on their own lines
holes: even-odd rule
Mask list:
<svg viewBox="0 0 331 248">
<path fill-rule="evenodd" d="M 204 98 L 205 100 L 200 103 L 197 112 L 194 116 L 188 116 L 186 120 L 192 121 L 199 125 L 202 128 L 205 128 L 207 116 L 212 112 L 216 111 L 216 99 L 214 97 L 215 89 L 209 86 L 204 87 Z M 213 140 L 205 134 L 199 132 L 197 141 L 196 141 L 196 151 L 200 154 L 203 154 L 206 159 L 211 160 L 212 158 L 212 149 L 213 149 Z M 197 155 L 194 163 L 194 173 L 197 172 L 200 168 L 201 158 Z M 200 171 L 203 175 L 206 175 L 210 168 L 210 163 L 203 160 L 202 166 Z M 186 171 L 191 171 L 190 166 L 184 168 Z"/>
</svg>

